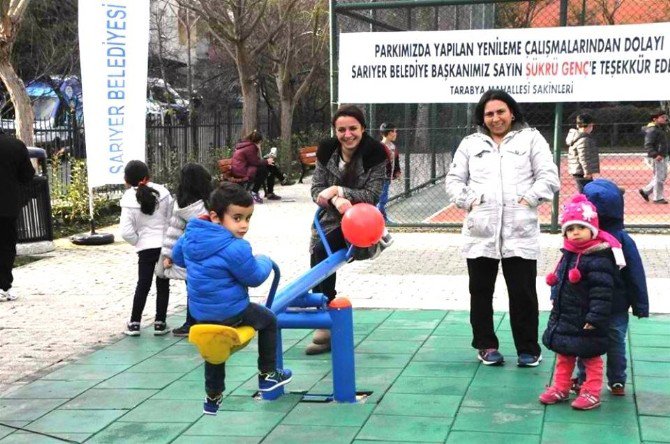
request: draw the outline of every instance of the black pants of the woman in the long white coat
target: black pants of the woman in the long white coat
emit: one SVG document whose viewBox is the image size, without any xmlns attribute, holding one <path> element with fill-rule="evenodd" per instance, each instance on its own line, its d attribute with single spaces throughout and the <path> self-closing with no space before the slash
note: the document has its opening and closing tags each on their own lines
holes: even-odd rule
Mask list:
<svg viewBox="0 0 670 444">
<path fill-rule="evenodd" d="M 493 290 L 498 262 L 486 257 L 468 259 L 470 324 L 472 346 L 476 349 L 499 347 L 493 327 Z M 538 356 L 537 261 L 510 257 L 502 259 L 502 269 L 509 293 L 509 317 L 517 354 Z"/>
</svg>

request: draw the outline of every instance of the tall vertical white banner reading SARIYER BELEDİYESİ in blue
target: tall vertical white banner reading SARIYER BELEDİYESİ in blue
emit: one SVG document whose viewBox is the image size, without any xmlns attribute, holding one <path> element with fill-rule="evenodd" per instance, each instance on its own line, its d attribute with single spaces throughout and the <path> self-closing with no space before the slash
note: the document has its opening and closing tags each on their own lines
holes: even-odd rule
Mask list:
<svg viewBox="0 0 670 444">
<path fill-rule="evenodd" d="M 124 183 L 144 160 L 149 0 L 79 0 L 89 187 Z"/>
</svg>

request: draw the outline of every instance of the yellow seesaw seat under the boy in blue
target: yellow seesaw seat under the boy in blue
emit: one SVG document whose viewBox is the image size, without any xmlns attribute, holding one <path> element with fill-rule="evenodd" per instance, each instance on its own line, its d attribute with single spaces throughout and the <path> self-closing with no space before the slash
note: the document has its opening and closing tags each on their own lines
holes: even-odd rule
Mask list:
<svg viewBox="0 0 670 444">
<path fill-rule="evenodd" d="M 256 335 L 249 326 L 227 327 L 217 324 L 191 326 L 188 341 L 195 344 L 202 358 L 210 364 L 226 362 L 230 355 L 246 347 Z"/>
</svg>

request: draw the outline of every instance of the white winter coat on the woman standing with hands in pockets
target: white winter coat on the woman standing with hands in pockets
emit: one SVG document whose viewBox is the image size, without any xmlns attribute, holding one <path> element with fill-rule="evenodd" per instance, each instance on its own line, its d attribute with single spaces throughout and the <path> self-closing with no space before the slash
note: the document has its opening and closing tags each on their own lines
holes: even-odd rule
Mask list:
<svg viewBox="0 0 670 444">
<path fill-rule="evenodd" d="M 500 146 L 483 129 L 465 137 L 446 179 L 449 200 L 469 210 L 462 230 L 465 257 L 537 260 L 537 207 L 559 186 L 549 145 L 534 128 L 515 124 Z"/>
</svg>

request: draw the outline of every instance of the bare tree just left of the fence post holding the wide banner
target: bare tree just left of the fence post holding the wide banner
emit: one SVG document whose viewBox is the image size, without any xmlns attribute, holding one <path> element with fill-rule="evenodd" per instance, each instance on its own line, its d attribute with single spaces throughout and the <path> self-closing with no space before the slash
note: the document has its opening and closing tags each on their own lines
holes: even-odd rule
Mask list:
<svg viewBox="0 0 670 444">
<path fill-rule="evenodd" d="M 277 8 L 282 7 L 277 4 Z M 277 11 L 276 17 L 280 17 Z M 271 17 L 275 16 L 271 14 Z M 270 23 L 272 28 L 276 23 Z M 325 0 L 301 0 L 288 15 L 284 30 L 268 46 L 280 105 L 280 138 L 291 154 L 293 114 L 316 76 L 328 63 L 328 9 Z M 289 161 L 292 159 L 289 159 Z"/>
</svg>

